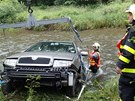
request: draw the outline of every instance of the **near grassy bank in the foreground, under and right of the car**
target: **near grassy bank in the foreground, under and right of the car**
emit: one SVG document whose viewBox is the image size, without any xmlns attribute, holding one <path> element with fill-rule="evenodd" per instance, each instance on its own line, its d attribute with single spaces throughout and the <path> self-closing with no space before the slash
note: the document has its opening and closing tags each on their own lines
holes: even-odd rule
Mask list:
<svg viewBox="0 0 135 101">
<path fill-rule="evenodd" d="M 118 78 L 109 79 L 107 83 L 95 80 L 93 85 L 85 88 L 79 101 L 118 101 Z M 34 96 L 33 96 L 34 95 Z M 52 91 L 37 91 L 30 95 L 27 91 L 3 96 L 0 91 L 0 101 L 72 101 L 65 98 L 63 92 L 53 89 Z"/>
</svg>

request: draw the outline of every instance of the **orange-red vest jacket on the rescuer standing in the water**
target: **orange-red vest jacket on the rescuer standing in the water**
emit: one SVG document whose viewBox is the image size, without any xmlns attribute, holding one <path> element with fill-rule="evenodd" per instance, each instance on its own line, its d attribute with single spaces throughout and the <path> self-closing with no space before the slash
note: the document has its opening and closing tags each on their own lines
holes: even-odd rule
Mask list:
<svg viewBox="0 0 135 101">
<path fill-rule="evenodd" d="M 93 51 L 89 54 L 90 66 L 100 67 L 100 53 L 98 51 Z"/>
</svg>

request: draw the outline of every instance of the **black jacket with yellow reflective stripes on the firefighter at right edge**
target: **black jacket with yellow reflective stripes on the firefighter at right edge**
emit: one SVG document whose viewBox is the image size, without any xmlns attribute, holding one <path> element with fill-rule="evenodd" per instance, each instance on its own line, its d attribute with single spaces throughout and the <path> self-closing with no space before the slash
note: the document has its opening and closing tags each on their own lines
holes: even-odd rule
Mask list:
<svg viewBox="0 0 135 101">
<path fill-rule="evenodd" d="M 122 69 L 122 74 L 135 79 L 135 28 L 133 27 L 128 29 L 127 34 L 117 44 L 120 55 L 116 65 Z"/>
</svg>

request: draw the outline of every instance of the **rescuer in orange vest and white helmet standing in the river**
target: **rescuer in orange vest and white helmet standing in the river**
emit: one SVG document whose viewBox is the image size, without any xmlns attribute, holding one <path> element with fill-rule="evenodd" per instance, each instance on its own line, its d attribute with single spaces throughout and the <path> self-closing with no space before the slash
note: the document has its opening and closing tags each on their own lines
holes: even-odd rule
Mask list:
<svg viewBox="0 0 135 101">
<path fill-rule="evenodd" d="M 88 55 L 89 55 L 89 60 L 90 60 L 90 69 L 93 73 L 96 73 L 97 70 L 100 67 L 100 44 L 99 43 L 94 43 L 92 45 L 93 51 L 90 53 L 90 50 L 88 49 Z"/>
</svg>

